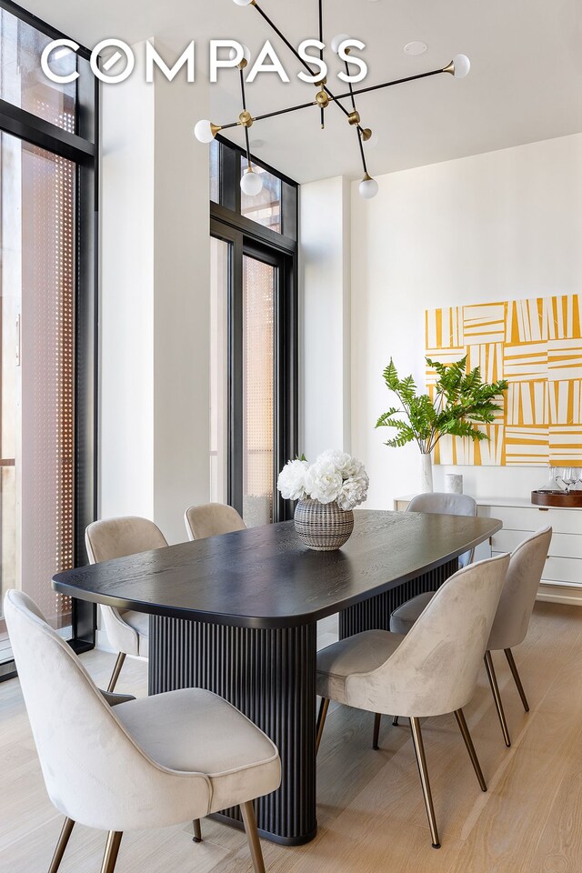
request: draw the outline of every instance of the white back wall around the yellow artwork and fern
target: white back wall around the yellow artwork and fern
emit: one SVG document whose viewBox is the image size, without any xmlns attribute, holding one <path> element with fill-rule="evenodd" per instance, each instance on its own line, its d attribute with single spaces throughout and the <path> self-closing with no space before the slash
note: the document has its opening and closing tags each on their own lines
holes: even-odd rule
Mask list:
<svg viewBox="0 0 582 873">
<path fill-rule="evenodd" d="M 382 370 L 424 375 L 424 312 L 437 306 L 582 291 L 582 134 L 378 178 L 352 197 L 352 448 L 370 476 L 368 507 L 414 492 L 415 447 L 374 429 L 392 405 Z M 541 468 L 461 472 L 477 497 L 525 497 Z"/>
</svg>

